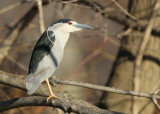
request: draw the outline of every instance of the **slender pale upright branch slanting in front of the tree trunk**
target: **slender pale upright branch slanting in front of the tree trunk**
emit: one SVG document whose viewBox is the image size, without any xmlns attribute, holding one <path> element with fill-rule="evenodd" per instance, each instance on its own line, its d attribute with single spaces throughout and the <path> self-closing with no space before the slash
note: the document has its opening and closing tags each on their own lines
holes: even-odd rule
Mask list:
<svg viewBox="0 0 160 114">
<path fill-rule="evenodd" d="M 157 15 L 157 11 L 158 9 L 160 8 L 160 3 L 155 3 L 155 7 L 153 9 L 153 14 L 152 14 L 152 17 L 148 23 L 148 26 L 146 28 L 146 31 L 145 31 L 145 34 L 144 34 L 144 38 L 140 44 L 140 47 L 139 47 L 139 50 L 137 52 L 137 57 L 136 57 L 136 60 L 135 60 L 135 67 L 134 67 L 134 79 L 133 79 L 133 90 L 134 91 L 138 91 L 139 90 L 139 85 L 140 85 L 140 67 L 141 67 L 141 64 L 142 64 L 142 58 L 143 58 L 143 55 L 144 55 L 144 51 L 147 47 L 147 43 L 149 41 L 149 38 L 150 38 L 150 35 L 151 35 L 151 32 L 152 32 L 152 28 L 154 27 L 154 24 L 155 24 L 155 18 L 156 18 L 156 15 Z M 136 108 L 136 97 L 133 97 L 133 101 L 132 101 L 132 113 L 133 114 L 137 114 L 138 113 L 138 110 Z"/>
</svg>

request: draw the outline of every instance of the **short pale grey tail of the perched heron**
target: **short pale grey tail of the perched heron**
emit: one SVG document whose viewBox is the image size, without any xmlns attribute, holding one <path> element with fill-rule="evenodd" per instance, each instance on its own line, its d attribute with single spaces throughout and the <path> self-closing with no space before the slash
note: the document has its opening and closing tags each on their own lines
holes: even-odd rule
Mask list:
<svg viewBox="0 0 160 114">
<path fill-rule="evenodd" d="M 40 84 L 41 81 L 37 77 L 29 75 L 26 79 L 26 88 L 28 90 L 27 93 L 29 95 L 33 94 L 37 90 Z"/>
</svg>

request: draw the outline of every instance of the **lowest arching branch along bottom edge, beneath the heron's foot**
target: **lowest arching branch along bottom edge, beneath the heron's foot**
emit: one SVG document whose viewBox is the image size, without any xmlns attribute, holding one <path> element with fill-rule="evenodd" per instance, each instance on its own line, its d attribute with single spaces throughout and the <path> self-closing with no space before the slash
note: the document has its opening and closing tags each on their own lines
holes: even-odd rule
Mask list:
<svg viewBox="0 0 160 114">
<path fill-rule="evenodd" d="M 61 100 L 54 99 L 50 100 L 49 102 L 46 102 L 46 98 L 47 97 L 42 96 L 30 96 L 2 101 L 0 102 L 0 112 L 24 106 L 49 106 L 60 108 L 64 112 L 68 113 L 75 112 L 80 114 L 122 114 L 118 112 L 110 112 L 107 110 L 99 109 L 85 101 L 81 101 L 68 95 L 66 95 Z"/>
</svg>

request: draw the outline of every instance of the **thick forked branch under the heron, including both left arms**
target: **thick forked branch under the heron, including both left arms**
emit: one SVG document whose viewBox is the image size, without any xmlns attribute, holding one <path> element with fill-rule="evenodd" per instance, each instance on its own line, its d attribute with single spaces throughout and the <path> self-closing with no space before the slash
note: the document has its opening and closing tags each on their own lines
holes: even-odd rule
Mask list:
<svg viewBox="0 0 160 114">
<path fill-rule="evenodd" d="M 25 80 L 23 78 L 23 75 L 14 75 L 0 71 L 1 84 L 5 84 L 26 91 Z M 50 106 L 60 108 L 68 113 L 75 112 L 82 114 L 123 114 L 120 112 L 100 109 L 92 104 L 89 104 L 86 101 L 74 98 L 66 93 L 58 92 L 56 89 L 54 89 L 54 92 L 55 95 L 58 96 L 60 99 L 52 99 L 49 102 L 46 102 L 47 97 L 44 96 L 48 96 L 49 91 L 46 85 L 41 84 L 39 89 L 35 92 L 35 95 L 40 96 L 30 96 L 2 101 L 0 102 L 0 112 L 24 106 Z"/>
</svg>

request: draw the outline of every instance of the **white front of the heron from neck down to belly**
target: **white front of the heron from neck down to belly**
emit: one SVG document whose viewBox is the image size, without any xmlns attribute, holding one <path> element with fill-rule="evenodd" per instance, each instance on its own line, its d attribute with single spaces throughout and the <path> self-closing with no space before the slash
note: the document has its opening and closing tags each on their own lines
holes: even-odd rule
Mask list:
<svg viewBox="0 0 160 114">
<path fill-rule="evenodd" d="M 51 53 L 42 59 L 34 73 L 34 75 L 40 77 L 41 82 L 51 77 L 57 66 L 60 64 L 68 38 L 69 33 L 59 33 L 58 35 L 55 33 L 55 42 L 51 49 Z"/>
</svg>

